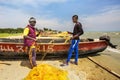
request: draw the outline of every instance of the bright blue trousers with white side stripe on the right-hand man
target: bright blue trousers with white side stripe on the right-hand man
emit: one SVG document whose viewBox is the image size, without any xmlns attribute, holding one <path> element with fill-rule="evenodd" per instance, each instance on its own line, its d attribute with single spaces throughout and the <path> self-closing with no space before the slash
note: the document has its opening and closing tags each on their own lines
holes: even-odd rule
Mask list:
<svg viewBox="0 0 120 80">
<path fill-rule="evenodd" d="M 70 61 L 71 57 L 72 57 L 72 53 L 73 51 L 75 52 L 75 62 L 78 61 L 78 45 L 79 45 L 80 40 L 72 40 L 69 52 L 68 52 L 68 58 L 67 58 L 67 62 Z"/>
</svg>

